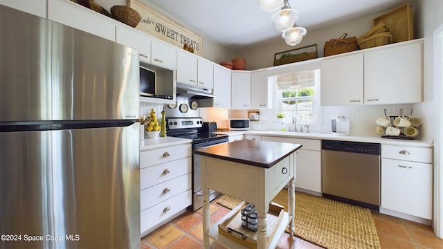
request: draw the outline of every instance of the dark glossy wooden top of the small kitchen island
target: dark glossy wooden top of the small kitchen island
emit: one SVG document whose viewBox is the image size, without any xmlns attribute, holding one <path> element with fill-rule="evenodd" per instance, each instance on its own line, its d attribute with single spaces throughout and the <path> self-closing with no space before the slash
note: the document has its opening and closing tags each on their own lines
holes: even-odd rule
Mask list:
<svg viewBox="0 0 443 249">
<path fill-rule="evenodd" d="M 235 163 L 269 168 L 300 149 L 302 145 L 287 142 L 238 140 L 211 147 L 200 148 L 194 154 L 209 156 Z"/>
</svg>

